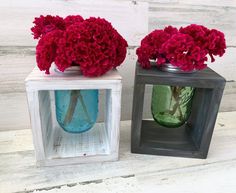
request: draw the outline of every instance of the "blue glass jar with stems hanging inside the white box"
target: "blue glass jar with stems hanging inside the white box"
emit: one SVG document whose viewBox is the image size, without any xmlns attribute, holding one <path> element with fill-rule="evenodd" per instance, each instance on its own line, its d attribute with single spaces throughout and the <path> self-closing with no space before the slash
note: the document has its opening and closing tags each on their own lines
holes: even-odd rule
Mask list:
<svg viewBox="0 0 236 193">
<path fill-rule="evenodd" d="M 56 119 L 70 133 L 88 131 L 98 115 L 98 90 L 56 90 Z"/>
</svg>

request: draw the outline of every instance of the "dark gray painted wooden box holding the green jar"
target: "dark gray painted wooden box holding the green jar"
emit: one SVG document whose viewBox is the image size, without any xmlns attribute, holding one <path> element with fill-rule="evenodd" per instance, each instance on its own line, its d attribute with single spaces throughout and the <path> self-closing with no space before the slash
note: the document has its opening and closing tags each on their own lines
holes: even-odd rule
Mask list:
<svg viewBox="0 0 236 193">
<path fill-rule="evenodd" d="M 210 68 L 192 74 L 174 74 L 159 71 L 156 66 L 145 70 L 137 63 L 131 152 L 206 158 L 225 82 L 223 77 Z M 187 123 L 179 128 L 166 128 L 154 120 L 143 120 L 146 84 L 195 87 L 192 111 Z"/>
</svg>

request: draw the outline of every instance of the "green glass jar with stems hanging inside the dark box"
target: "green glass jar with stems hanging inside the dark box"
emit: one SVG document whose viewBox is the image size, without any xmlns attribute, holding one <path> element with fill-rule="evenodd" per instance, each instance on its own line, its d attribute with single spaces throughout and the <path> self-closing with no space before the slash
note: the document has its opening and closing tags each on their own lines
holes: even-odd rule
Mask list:
<svg viewBox="0 0 236 193">
<path fill-rule="evenodd" d="M 191 113 L 194 88 L 154 85 L 151 111 L 153 119 L 165 127 L 179 127 Z"/>
</svg>

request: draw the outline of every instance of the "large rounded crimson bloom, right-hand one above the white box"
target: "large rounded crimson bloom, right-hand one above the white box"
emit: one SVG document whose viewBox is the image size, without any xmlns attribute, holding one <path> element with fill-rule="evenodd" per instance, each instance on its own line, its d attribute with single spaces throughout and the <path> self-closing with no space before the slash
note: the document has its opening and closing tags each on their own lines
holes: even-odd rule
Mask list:
<svg viewBox="0 0 236 193">
<path fill-rule="evenodd" d="M 89 18 L 79 26 L 79 44 L 76 61 L 85 76 L 100 76 L 123 62 L 127 42 L 105 19 Z"/>
</svg>

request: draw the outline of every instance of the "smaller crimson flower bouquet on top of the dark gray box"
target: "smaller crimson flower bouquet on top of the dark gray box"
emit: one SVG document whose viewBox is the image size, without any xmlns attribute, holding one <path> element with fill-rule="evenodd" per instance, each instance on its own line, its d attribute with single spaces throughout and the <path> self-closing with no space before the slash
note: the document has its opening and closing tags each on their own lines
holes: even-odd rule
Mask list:
<svg viewBox="0 0 236 193">
<path fill-rule="evenodd" d="M 225 49 L 222 32 L 192 24 L 179 30 L 172 26 L 154 30 L 141 41 L 136 53 L 143 68 L 150 68 L 150 60 L 155 60 L 158 67 L 170 63 L 192 71 L 204 69 L 208 56 L 214 62 L 214 56 L 222 56 Z"/>
</svg>

